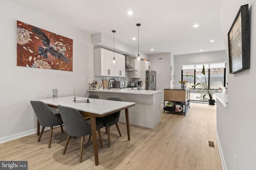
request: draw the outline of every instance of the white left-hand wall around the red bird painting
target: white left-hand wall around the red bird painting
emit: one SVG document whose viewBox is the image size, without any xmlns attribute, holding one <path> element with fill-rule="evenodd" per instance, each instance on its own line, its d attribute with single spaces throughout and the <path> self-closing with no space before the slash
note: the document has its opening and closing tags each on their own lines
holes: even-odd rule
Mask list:
<svg viewBox="0 0 256 170">
<path fill-rule="evenodd" d="M 0 143 L 35 132 L 36 117 L 30 100 L 59 96 L 84 96 L 86 74 L 93 74 L 90 35 L 8 0 L 0 1 Z M 46 70 L 17 65 L 16 20 L 73 39 L 73 71 Z"/>
</svg>

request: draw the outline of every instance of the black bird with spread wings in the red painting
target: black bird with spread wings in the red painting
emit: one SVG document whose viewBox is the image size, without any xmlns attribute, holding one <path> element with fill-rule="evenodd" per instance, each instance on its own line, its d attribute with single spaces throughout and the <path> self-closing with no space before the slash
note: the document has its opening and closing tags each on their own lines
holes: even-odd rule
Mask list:
<svg viewBox="0 0 256 170">
<path fill-rule="evenodd" d="M 32 31 L 34 31 L 34 33 L 36 33 L 36 35 L 42 39 L 42 43 L 45 46 L 45 48 L 38 46 L 39 55 L 44 58 L 49 58 L 48 53 L 50 53 L 52 56 L 60 59 L 61 61 L 64 61 L 67 64 L 71 63 L 71 61 L 66 56 L 56 51 L 54 47 L 50 46 L 50 39 L 38 27 L 32 26 Z"/>
</svg>

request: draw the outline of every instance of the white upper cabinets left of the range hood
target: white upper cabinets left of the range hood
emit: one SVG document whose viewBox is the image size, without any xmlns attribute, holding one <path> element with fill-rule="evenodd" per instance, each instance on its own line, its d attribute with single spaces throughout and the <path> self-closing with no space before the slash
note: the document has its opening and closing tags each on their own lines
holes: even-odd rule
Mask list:
<svg viewBox="0 0 256 170">
<path fill-rule="evenodd" d="M 116 64 L 113 63 L 114 52 L 98 48 L 94 49 L 94 75 L 125 77 L 125 57 L 115 53 Z"/>
</svg>

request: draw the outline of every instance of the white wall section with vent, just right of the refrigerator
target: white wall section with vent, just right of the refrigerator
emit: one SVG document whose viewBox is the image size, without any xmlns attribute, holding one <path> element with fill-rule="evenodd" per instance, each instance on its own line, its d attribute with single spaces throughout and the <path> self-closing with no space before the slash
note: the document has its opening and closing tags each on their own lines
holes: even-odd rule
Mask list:
<svg viewBox="0 0 256 170">
<path fill-rule="evenodd" d="M 152 70 L 156 71 L 156 90 L 161 90 L 161 100 L 164 101 L 164 88 L 170 88 L 171 53 L 150 55 Z M 158 60 L 158 58 L 163 58 Z"/>
</svg>

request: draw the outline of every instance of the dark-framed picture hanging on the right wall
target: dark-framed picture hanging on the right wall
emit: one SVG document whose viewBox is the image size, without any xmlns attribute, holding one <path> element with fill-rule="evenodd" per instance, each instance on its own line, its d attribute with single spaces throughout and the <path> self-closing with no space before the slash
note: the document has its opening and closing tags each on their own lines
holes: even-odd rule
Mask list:
<svg viewBox="0 0 256 170">
<path fill-rule="evenodd" d="M 240 6 L 228 31 L 229 72 L 234 74 L 250 68 L 250 19 L 248 4 Z"/>
</svg>

